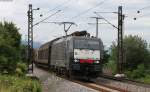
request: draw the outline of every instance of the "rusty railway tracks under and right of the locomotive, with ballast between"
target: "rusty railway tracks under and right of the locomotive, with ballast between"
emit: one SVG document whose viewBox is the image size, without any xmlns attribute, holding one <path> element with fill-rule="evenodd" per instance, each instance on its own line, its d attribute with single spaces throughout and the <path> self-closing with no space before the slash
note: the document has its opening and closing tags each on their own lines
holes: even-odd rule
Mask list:
<svg viewBox="0 0 150 92">
<path fill-rule="evenodd" d="M 49 69 L 46 69 L 46 68 L 44 70 L 49 71 Z M 85 80 L 81 80 L 77 78 L 69 79 L 65 75 L 60 75 L 56 73 L 54 74 L 65 80 L 86 86 L 98 92 L 99 91 L 100 92 L 149 92 L 149 88 L 150 88 L 149 84 L 146 84 L 143 82 L 133 81 L 133 80 L 125 79 L 125 78 L 124 79 L 115 78 L 113 76 L 107 76 L 107 75 L 100 76 L 100 78 L 103 78 L 103 79 L 98 78 L 96 80 L 93 79 L 91 81 L 85 81 Z M 110 82 L 110 81 L 113 81 L 113 82 Z M 128 85 L 128 87 L 124 86 L 124 84 Z M 132 86 L 132 85 L 135 85 L 135 86 Z M 142 90 L 139 91 L 138 89 L 142 89 Z"/>
</svg>

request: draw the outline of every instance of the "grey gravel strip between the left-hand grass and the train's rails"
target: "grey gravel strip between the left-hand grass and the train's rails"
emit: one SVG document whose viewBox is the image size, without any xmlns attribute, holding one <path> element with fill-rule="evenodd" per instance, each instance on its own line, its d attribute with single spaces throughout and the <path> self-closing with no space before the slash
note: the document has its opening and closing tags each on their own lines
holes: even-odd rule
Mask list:
<svg viewBox="0 0 150 92">
<path fill-rule="evenodd" d="M 70 82 L 39 68 L 34 68 L 34 76 L 42 83 L 43 92 L 99 92 L 94 89 Z"/>
</svg>

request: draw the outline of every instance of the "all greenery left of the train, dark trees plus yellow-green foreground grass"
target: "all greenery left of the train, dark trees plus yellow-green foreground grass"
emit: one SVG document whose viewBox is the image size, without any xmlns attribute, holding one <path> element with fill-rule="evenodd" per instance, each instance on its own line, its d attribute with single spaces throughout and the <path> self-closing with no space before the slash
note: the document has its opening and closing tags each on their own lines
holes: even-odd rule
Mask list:
<svg viewBox="0 0 150 92">
<path fill-rule="evenodd" d="M 19 28 L 0 22 L 0 92 L 41 92 L 39 81 L 26 77 L 26 46 Z"/>
</svg>

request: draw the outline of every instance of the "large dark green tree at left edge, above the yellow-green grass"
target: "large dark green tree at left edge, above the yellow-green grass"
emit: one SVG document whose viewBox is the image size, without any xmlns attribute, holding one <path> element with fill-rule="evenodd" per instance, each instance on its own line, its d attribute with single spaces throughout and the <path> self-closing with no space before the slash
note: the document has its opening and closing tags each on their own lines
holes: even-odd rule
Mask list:
<svg viewBox="0 0 150 92">
<path fill-rule="evenodd" d="M 21 35 L 13 23 L 0 23 L 0 73 L 13 74 L 21 61 Z"/>
</svg>

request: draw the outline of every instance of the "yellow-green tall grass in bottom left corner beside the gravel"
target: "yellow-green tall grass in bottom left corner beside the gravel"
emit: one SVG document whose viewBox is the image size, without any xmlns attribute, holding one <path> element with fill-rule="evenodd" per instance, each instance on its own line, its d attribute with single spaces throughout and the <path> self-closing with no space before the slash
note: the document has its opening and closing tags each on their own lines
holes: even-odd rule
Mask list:
<svg viewBox="0 0 150 92">
<path fill-rule="evenodd" d="M 0 76 L 0 92 L 41 92 L 41 85 L 30 78 Z"/>
</svg>

